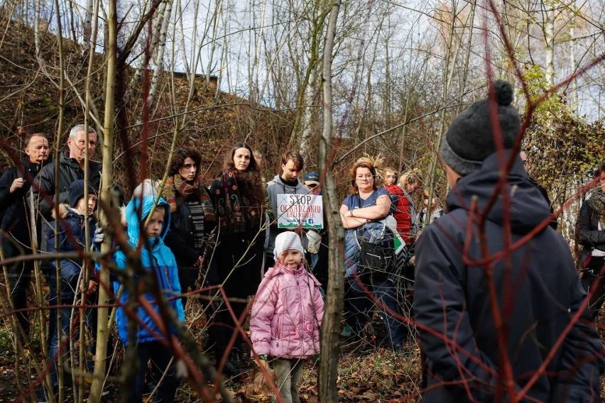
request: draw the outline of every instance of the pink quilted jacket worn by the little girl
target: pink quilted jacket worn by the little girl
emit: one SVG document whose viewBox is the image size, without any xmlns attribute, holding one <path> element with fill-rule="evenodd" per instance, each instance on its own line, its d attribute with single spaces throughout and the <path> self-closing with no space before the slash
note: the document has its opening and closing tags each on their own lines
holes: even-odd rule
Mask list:
<svg viewBox="0 0 605 403">
<path fill-rule="evenodd" d="M 323 314 L 320 282 L 302 264 L 291 269 L 276 263 L 258 286 L 252 306 L 254 351 L 280 358 L 319 353 Z"/>
</svg>

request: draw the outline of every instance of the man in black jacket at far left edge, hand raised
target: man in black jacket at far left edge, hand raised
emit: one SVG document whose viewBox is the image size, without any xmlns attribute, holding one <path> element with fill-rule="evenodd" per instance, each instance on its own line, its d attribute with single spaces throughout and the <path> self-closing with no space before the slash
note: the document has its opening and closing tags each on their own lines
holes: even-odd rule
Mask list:
<svg viewBox="0 0 605 403">
<path fill-rule="evenodd" d="M 32 253 L 31 216 L 26 200 L 33 178 L 48 162 L 48 138 L 43 133 L 35 133 L 25 139 L 25 155 L 15 167 L 9 168 L 0 177 L 0 211 L 4 211 L 0 221 L 1 248 L 5 258 Z M 38 228 L 39 231 L 39 228 Z M 40 233 L 38 232 L 38 240 Z M 24 309 L 27 305 L 27 291 L 31 282 L 33 261 L 23 261 L 7 267 L 9 293 L 14 309 Z M 29 319 L 26 312 L 19 312 L 17 319 L 23 335 L 29 334 Z"/>
</svg>

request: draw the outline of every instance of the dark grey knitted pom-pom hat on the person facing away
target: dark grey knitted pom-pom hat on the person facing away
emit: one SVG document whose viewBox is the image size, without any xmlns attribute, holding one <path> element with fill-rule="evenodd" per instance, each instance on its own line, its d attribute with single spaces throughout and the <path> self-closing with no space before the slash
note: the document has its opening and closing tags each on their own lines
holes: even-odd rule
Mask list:
<svg viewBox="0 0 605 403">
<path fill-rule="evenodd" d="M 511 106 L 511 84 L 497 80 L 492 84 L 491 93 L 494 95 L 476 101 L 454 118 L 441 143 L 441 157 L 459 175 L 478 170 L 483 160 L 496 152 L 498 131 L 504 149 L 513 148 L 519 134 L 521 118 L 517 109 Z M 492 126 L 491 114 L 494 112 L 497 128 Z"/>
</svg>

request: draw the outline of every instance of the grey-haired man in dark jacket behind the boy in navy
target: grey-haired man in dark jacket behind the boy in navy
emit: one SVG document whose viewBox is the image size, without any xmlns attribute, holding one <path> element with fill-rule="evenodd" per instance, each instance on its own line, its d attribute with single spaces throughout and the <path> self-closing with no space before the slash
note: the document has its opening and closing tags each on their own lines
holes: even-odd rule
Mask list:
<svg viewBox="0 0 605 403">
<path fill-rule="evenodd" d="M 94 148 L 97 147 L 97 132 L 88 128 L 88 168 L 89 181 L 98 192 L 101 182 L 101 163 L 93 161 Z M 53 221 L 51 212 L 55 204 L 68 202 L 69 187 L 75 180 L 84 180 L 84 163 L 86 155 L 86 133 L 84 125 L 76 125 L 67 138 L 67 151 L 59 156 L 58 161 L 45 165 L 38 176 L 36 184 L 31 187 L 33 200 L 38 205 L 40 215 L 45 221 Z M 55 164 L 59 164 L 59 177 L 55 178 Z M 58 182 L 58 194 L 55 194 Z"/>
</svg>

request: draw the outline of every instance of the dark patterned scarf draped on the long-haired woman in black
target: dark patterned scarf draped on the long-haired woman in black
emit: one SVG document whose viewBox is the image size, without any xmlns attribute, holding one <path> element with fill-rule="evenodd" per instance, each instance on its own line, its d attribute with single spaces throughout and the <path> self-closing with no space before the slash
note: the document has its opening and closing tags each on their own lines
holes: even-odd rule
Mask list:
<svg viewBox="0 0 605 403">
<path fill-rule="evenodd" d="M 245 233 L 261 228 L 263 201 L 254 189 L 260 184 L 250 183 L 253 180 L 251 175 L 228 170 L 212 184 L 222 233 Z"/>
</svg>

